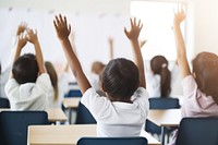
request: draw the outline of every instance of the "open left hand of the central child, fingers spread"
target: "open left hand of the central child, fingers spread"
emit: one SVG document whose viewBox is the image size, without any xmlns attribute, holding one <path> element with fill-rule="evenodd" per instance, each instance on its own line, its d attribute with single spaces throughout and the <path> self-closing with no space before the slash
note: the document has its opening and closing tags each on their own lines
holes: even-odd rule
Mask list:
<svg viewBox="0 0 218 145">
<path fill-rule="evenodd" d="M 56 20 L 53 20 L 53 25 L 56 27 L 56 33 L 58 35 L 58 38 L 60 40 L 68 39 L 70 33 L 71 33 L 71 25 L 66 22 L 66 17 L 62 16 L 61 14 L 56 15 Z"/>
</svg>

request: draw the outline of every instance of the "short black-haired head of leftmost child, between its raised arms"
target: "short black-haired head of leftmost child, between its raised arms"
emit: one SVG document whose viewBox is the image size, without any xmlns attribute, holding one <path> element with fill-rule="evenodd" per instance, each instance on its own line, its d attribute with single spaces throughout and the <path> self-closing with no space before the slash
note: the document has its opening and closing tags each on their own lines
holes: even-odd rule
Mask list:
<svg viewBox="0 0 218 145">
<path fill-rule="evenodd" d="M 12 73 L 19 84 L 35 83 L 38 76 L 36 57 L 26 53 L 17 58 L 13 63 Z"/>
</svg>

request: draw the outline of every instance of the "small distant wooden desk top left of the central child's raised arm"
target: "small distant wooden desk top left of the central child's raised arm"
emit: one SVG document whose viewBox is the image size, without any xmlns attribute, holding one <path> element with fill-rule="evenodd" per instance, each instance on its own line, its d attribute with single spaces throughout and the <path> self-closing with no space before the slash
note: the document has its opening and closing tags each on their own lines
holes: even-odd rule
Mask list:
<svg viewBox="0 0 218 145">
<path fill-rule="evenodd" d="M 62 102 L 65 108 L 75 109 L 78 107 L 80 101 L 81 97 L 71 97 L 71 98 L 63 98 Z"/>
</svg>

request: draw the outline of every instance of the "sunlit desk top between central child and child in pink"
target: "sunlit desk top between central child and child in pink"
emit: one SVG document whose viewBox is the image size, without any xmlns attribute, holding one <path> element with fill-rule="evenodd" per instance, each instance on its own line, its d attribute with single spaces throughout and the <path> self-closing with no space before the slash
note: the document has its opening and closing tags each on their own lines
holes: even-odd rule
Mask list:
<svg viewBox="0 0 218 145">
<path fill-rule="evenodd" d="M 181 109 L 150 109 L 147 119 L 159 126 L 178 126 L 182 119 Z"/>
</svg>

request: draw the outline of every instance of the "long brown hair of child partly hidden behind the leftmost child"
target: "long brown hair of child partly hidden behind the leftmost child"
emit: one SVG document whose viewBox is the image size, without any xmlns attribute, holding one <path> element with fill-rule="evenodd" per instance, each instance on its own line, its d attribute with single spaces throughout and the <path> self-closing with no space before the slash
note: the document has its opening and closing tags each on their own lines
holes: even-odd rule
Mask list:
<svg viewBox="0 0 218 145">
<path fill-rule="evenodd" d="M 53 86 L 53 89 L 55 89 L 53 100 L 56 101 L 56 100 L 58 100 L 58 75 L 57 75 L 53 64 L 50 61 L 46 61 L 45 67 L 46 67 L 46 71 L 50 77 L 51 85 Z"/>
</svg>

